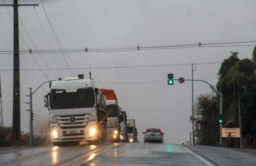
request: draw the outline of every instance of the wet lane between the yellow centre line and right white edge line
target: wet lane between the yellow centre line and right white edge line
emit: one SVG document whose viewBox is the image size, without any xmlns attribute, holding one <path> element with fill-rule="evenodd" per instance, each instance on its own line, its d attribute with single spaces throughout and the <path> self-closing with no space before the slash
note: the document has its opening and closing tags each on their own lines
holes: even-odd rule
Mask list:
<svg viewBox="0 0 256 166">
<path fill-rule="evenodd" d="M 111 148 L 82 166 L 207 166 L 175 144 L 128 143 Z"/>
</svg>

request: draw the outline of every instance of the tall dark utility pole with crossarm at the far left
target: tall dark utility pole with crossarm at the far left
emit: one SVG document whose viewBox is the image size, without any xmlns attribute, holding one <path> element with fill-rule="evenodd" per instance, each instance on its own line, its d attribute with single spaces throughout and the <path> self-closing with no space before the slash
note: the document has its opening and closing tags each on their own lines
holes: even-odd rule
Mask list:
<svg viewBox="0 0 256 166">
<path fill-rule="evenodd" d="M 12 140 L 20 140 L 20 51 L 19 51 L 19 6 L 38 6 L 38 4 L 18 4 L 14 0 L 13 4 L 0 4 L 0 6 L 13 6 L 13 111 L 12 111 Z"/>
</svg>

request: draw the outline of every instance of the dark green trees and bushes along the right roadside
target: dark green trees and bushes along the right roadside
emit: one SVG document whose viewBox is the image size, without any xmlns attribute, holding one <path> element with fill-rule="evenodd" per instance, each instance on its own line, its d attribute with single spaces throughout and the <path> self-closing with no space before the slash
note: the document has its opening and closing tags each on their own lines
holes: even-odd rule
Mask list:
<svg viewBox="0 0 256 166">
<path fill-rule="evenodd" d="M 240 96 L 242 135 L 249 135 L 252 144 L 256 144 L 256 47 L 252 59 L 239 59 L 238 52 L 230 53 L 231 56 L 222 62 L 218 72 L 217 89 L 223 96 L 223 126 L 239 127 Z M 219 96 L 214 97 L 213 101 L 217 104 L 214 109 L 212 107 L 215 104 L 210 103 L 209 94 L 201 94 L 196 100 L 196 137 L 200 145 L 216 145 L 219 140 Z"/>
</svg>

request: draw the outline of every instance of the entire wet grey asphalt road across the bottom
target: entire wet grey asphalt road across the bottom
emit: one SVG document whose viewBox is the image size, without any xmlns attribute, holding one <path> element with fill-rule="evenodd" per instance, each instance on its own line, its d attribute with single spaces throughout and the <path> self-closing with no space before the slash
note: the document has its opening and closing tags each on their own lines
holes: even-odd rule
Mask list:
<svg viewBox="0 0 256 166">
<path fill-rule="evenodd" d="M 0 166 L 256 166 L 254 150 L 157 143 L 0 148 Z"/>
</svg>

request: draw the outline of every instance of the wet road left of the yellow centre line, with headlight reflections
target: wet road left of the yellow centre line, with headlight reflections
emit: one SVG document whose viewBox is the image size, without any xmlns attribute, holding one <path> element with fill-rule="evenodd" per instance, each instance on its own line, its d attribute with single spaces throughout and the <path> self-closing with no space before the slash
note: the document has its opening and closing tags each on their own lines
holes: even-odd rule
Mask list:
<svg viewBox="0 0 256 166">
<path fill-rule="evenodd" d="M 60 165 L 102 146 L 104 145 L 0 148 L 0 166 Z M 88 161 L 92 160 L 94 155 L 90 155 Z"/>
</svg>

